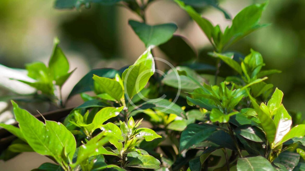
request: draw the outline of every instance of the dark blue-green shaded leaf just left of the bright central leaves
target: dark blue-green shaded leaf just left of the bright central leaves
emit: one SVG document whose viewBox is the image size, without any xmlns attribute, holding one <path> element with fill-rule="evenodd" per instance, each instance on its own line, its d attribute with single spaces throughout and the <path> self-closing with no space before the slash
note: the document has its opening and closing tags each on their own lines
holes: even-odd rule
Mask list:
<svg viewBox="0 0 305 171">
<path fill-rule="evenodd" d="M 70 92 L 68 98 L 81 92 L 93 91 L 94 90 L 94 80 L 92 79 L 93 75 L 112 79 L 117 73 L 119 72 L 112 68 L 100 68 L 100 69 L 91 70 L 79 82 L 77 82 L 77 84 L 73 87 L 72 91 Z"/>
</svg>

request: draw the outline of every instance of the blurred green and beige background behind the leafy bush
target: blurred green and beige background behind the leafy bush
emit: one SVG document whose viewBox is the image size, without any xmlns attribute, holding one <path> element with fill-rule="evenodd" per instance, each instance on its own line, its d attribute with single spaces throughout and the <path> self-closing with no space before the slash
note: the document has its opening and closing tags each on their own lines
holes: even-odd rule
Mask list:
<svg viewBox="0 0 305 171">
<path fill-rule="evenodd" d="M 223 0 L 220 6 L 232 18 L 244 7 L 264 1 Z M 24 69 L 26 63 L 48 62 L 52 53 L 53 38 L 58 37 L 60 47 L 70 62 L 70 70 L 77 68 L 63 86 L 64 99 L 73 86 L 92 68 L 116 68 L 132 64 L 145 51 L 145 46 L 128 25 L 128 19 L 141 20 L 136 14 L 119 6 L 92 4 L 91 9 L 58 10 L 53 1 L 1 0 L 0 1 L 0 64 Z M 269 77 L 267 82 L 284 92 L 287 110 L 305 114 L 305 1 L 269 1 L 260 23 L 271 23 L 239 41 L 229 49 L 243 55 L 250 48 L 264 58 L 264 69 L 279 69 L 281 74 Z M 207 58 L 212 47 L 197 24 L 170 0 L 156 0 L 147 9 L 147 23 L 173 22 L 178 25 L 175 34 L 182 35 L 197 51 L 199 60 Z M 212 7 L 202 10 L 202 16 L 220 24 L 222 29 L 231 21 Z M 168 59 L 155 48 L 156 57 Z M 174 61 L 172 61 L 175 64 Z M 158 65 L 158 64 L 157 64 Z M 162 68 L 165 67 L 165 68 Z M 3 68 L 3 66 L 2 66 Z M 159 69 L 166 69 L 160 64 Z M 9 75 L 1 70 L 0 79 Z M 16 83 L 17 86 L 17 83 Z M 32 91 L 30 88 L 24 91 Z M 7 95 L 0 89 L 0 97 Z M 81 103 L 72 98 L 68 106 Z M 6 103 L 0 102 L 4 109 Z M 45 106 L 40 106 L 44 111 Z M 0 120 L 1 120 L 0 116 Z M 31 162 L 28 162 L 31 160 Z M 26 162 L 25 162 L 26 161 Z M 23 153 L 8 162 L 0 161 L 2 170 L 30 170 L 47 158 L 34 153 Z"/>
</svg>

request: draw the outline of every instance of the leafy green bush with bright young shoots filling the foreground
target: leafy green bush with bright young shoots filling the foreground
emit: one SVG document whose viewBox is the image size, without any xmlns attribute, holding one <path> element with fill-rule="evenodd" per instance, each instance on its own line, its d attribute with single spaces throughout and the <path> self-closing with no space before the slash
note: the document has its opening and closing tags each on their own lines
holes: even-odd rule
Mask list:
<svg viewBox="0 0 305 171">
<path fill-rule="evenodd" d="M 55 6 L 79 9 L 81 5 L 90 7 L 90 2 L 57 0 Z M 143 21 L 130 20 L 129 25 L 147 50 L 128 68 L 100 68 L 85 75 L 69 95 L 81 94 L 84 103 L 62 123 L 41 122 L 12 101 L 19 128 L 0 126 L 19 139 L 6 152 L 46 155 L 55 164 L 34 169 L 45 171 L 305 170 L 305 124 L 300 113 L 285 109 L 283 92 L 265 82 L 268 75 L 280 71 L 262 70 L 262 55 L 253 49 L 245 57 L 227 50 L 268 25 L 259 24 L 267 3 L 246 7 L 231 26 L 221 30 L 192 7 L 199 2 L 175 0 L 213 45 L 214 51 L 206 57 L 213 66 L 188 62 L 196 53 L 184 38 L 173 36 L 174 23 L 146 24 L 145 9 L 151 0 L 93 2 L 119 3 L 137 13 Z M 230 19 L 214 1 L 206 3 Z M 171 67 L 166 76 L 160 76 L 162 71 L 156 68 L 156 61 L 162 61 L 153 57 L 157 46 L 180 64 Z M 220 78 L 223 67 L 232 74 Z M 73 71 L 69 72 L 59 41 L 54 40 L 48 67 L 35 62 L 26 69 L 35 82 L 19 81 L 64 107 L 61 87 Z M 95 95 L 85 94 L 88 91 Z"/>
</svg>

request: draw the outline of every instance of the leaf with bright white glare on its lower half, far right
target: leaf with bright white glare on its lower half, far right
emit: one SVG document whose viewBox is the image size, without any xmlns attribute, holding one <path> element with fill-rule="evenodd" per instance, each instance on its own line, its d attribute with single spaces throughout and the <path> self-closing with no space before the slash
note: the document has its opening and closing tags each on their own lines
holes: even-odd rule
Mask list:
<svg viewBox="0 0 305 171">
<path fill-rule="evenodd" d="M 291 116 L 283 105 L 278 107 L 274 115 L 274 123 L 276 125 L 276 135 L 274 144 L 282 140 L 282 138 L 289 132 L 292 125 Z"/>
</svg>

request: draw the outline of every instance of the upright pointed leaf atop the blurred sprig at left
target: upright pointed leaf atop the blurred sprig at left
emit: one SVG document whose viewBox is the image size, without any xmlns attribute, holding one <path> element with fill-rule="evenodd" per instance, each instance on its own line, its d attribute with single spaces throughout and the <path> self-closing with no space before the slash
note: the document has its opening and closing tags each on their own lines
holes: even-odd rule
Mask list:
<svg viewBox="0 0 305 171">
<path fill-rule="evenodd" d="M 59 40 L 55 38 L 53 53 L 49 61 L 49 72 L 53 80 L 59 79 L 69 71 L 69 62 L 58 44 Z"/>
</svg>

